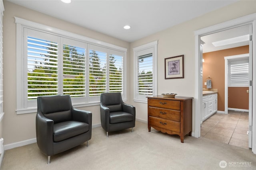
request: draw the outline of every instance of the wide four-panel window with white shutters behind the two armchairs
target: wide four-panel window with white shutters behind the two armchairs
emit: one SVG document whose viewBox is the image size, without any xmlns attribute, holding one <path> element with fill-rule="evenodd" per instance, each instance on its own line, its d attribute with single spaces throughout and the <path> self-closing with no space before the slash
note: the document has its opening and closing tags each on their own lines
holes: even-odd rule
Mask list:
<svg viewBox="0 0 256 170">
<path fill-rule="evenodd" d="M 33 113 L 38 96 L 69 94 L 81 107 L 99 104 L 103 92 L 124 96 L 126 52 L 26 27 L 18 37 L 17 114 Z"/>
</svg>

